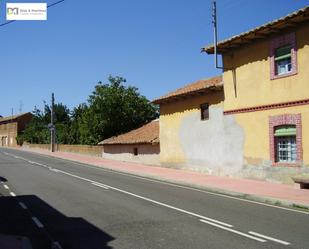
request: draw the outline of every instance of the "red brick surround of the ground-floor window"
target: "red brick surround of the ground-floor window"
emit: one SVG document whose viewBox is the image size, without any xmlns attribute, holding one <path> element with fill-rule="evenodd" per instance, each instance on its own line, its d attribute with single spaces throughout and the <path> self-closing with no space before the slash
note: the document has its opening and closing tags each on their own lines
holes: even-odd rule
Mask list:
<svg viewBox="0 0 309 249">
<path fill-rule="evenodd" d="M 296 148 L 297 158 L 295 163 L 276 163 L 275 158 L 275 127 L 279 125 L 295 125 L 296 126 Z M 283 114 L 269 117 L 269 150 L 270 159 L 273 166 L 300 166 L 303 160 L 302 147 L 302 122 L 301 114 Z"/>
</svg>

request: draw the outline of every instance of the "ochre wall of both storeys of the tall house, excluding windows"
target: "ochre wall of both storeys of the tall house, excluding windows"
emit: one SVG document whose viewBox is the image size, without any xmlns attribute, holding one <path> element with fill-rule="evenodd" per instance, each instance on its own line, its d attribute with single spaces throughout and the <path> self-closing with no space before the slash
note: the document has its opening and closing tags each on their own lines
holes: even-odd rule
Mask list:
<svg viewBox="0 0 309 249">
<path fill-rule="evenodd" d="M 309 99 L 309 23 L 269 39 L 257 40 L 223 55 L 225 70 L 224 111 L 259 107 Z M 297 74 L 271 80 L 270 43 L 286 34 L 295 33 L 297 47 Z M 302 164 L 299 167 L 273 166 L 271 161 L 269 117 L 284 114 L 301 114 Z M 278 180 L 291 183 L 291 175 L 309 172 L 309 105 L 264 109 L 225 115 L 232 116 L 242 127 L 243 176 Z"/>
</svg>

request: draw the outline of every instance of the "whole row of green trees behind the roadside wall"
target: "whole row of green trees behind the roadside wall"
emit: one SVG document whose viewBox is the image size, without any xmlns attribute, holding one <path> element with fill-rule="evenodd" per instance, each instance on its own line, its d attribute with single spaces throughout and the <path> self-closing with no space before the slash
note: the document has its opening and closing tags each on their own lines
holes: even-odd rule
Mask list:
<svg viewBox="0 0 309 249">
<path fill-rule="evenodd" d="M 70 111 L 65 105 L 54 106 L 56 140 L 62 144 L 94 145 L 103 139 L 138 128 L 158 117 L 158 109 L 133 86 L 126 87 L 122 77 L 99 82 L 83 103 Z M 33 119 L 18 139 L 30 143 L 49 143 L 50 107 L 37 108 Z"/>
</svg>

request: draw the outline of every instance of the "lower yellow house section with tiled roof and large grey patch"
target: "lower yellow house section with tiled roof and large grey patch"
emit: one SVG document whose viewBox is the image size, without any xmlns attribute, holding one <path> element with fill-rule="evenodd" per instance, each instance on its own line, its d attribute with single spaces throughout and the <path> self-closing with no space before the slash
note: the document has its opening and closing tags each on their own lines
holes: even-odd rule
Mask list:
<svg viewBox="0 0 309 249">
<path fill-rule="evenodd" d="M 160 164 L 216 175 L 243 167 L 243 129 L 223 115 L 222 77 L 199 80 L 154 100 L 160 105 Z"/>
</svg>

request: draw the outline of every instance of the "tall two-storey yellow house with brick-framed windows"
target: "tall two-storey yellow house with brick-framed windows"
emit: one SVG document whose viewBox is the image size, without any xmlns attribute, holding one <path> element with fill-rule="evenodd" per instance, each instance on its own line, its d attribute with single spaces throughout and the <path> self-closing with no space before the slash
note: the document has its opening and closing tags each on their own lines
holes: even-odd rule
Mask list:
<svg viewBox="0 0 309 249">
<path fill-rule="evenodd" d="M 214 53 L 214 46 L 203 48 Z M 309 6 L 218 43 L 224 116 L 244 134 L 241 176 L 309 172 Z M 163 150 L 163 149 L 162 149 Z"/>
</svg>

